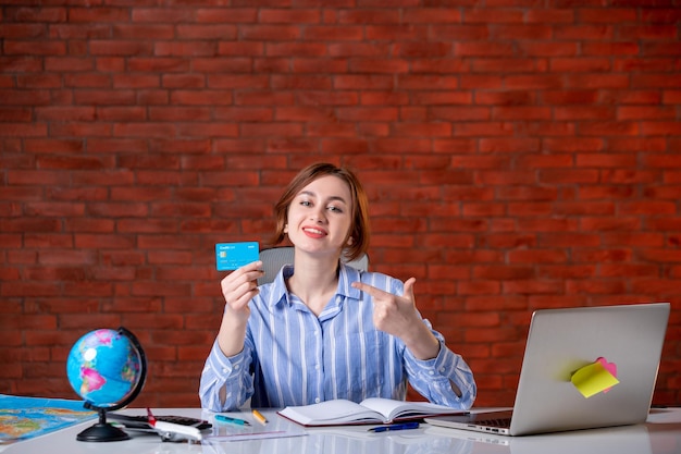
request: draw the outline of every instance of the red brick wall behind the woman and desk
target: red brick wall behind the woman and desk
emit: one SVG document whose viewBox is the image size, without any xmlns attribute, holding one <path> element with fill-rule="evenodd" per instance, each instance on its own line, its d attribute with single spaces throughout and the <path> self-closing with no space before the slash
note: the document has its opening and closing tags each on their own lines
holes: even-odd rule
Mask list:
<svg viewBox="0 0 681 454">
<path fill-rule="evenodd" d="M 673 306 L 655 401 L 681 403 L 679 0 L 0 14 L 0 392 L 75 397 L 71 345 L 123 324 L 136 404 L 198 405 L 214 243 L 267 240 L 282 185 L 331 160 L 369 191 L 372 268 L 418 279 L 480 405 L 512 404 L 533 309 L 649 300 Z"/>
</svg>

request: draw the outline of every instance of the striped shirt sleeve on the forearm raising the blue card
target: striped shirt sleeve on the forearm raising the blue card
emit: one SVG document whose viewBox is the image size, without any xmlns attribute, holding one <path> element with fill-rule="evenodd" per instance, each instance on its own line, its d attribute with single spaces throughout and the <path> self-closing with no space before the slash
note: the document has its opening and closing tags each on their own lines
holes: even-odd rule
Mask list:
<svg viewBox="0 0 681 454">
<path fill-rule="evenodd" d="M 230 412 L 246 403 L 253 393 L 248 358 L 246 346 L 242 353 L 226 357 L 215 340 L 201 372 L 199 398 L 203 409 Z"/>
</svg>

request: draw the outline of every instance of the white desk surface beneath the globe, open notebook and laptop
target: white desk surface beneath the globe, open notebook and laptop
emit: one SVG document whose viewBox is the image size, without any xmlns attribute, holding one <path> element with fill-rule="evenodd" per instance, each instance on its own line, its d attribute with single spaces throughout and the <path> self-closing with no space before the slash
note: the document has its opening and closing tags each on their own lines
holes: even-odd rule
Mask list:
<svg viewBox="0 0 681 454">
<path fill-rule="evenodd" d="M 128 414 L 144 414 L 128 409 Z M 200 409 L 159 408 L 158 415 L 202 417 L 212 422 L 212 414 Z M 293 425 L 263 412 L 268 430 L 290 429 Z M 240 415 L 250 419 L 250 414 Z M 417 430 L 368 433 L 367 427 L 338 427 L 305 430 L 301 437 L 219 442 L 213 444 L 163 443 L 153 434 L 135 435 L 132 440 L 88 443 L 76 441 L 76 434 L 94 421 L 74 426 L 48 435 L 7 446 L 2 454 L 679 454 L 681 453 L 681 408 L 655 409 L 645 425 L 610 429 L 581 430 L 532 437 L 475 434 L 454 429 L 422 425 Z M 300 430 L 299 426 L 293 430 Z M 226 429 L 220 422 L 216 433 Z"/>
</svg>

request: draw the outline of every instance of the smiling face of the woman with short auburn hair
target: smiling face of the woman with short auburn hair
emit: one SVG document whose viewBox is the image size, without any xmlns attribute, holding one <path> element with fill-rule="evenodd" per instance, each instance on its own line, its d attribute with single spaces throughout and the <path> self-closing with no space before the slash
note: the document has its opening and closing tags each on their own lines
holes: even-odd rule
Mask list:
<svg viewBox="0 0 681 454">
<path fill-rule="evenodd" d="M 305 186 L 288 207 L 286 233 L 310 254 L 340 255 L 348 244 L 351 195 L 337 176 L 321 176 Z"/>
</svg>

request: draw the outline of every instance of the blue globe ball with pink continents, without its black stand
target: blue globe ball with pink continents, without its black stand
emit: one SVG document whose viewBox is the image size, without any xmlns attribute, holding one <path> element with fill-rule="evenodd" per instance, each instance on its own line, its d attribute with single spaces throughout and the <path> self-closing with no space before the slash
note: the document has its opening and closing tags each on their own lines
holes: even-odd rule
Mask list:
<svg viewBox="0 0 681 454">
<path fill-rule="evenodd" d="M 141 377 L 141 358 L 124 333 L 100 329 L 81 338 L 66 360 L 69 382 L 76 393 L 96 407 L 125 402 Z"/>
</svg>

